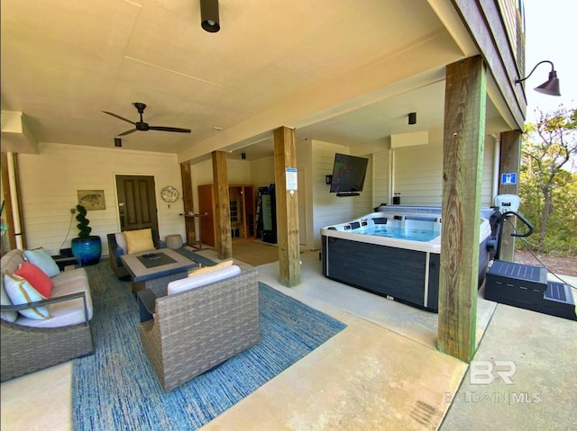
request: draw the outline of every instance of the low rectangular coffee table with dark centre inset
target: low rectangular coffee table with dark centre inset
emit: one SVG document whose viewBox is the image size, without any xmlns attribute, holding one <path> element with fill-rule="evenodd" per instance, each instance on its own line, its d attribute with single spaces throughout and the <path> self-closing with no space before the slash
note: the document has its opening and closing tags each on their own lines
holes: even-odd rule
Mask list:
<svg viewBox="0 0 577 431">
<path fill-rule="evenodd" d="M 186 278 L 188 270 L 200 266 L 170 248 L 120 256 L 133 280 L 133 292 L 148 289 L 156 296 L 167 294 L 167 284 Z"/>
</svg>

